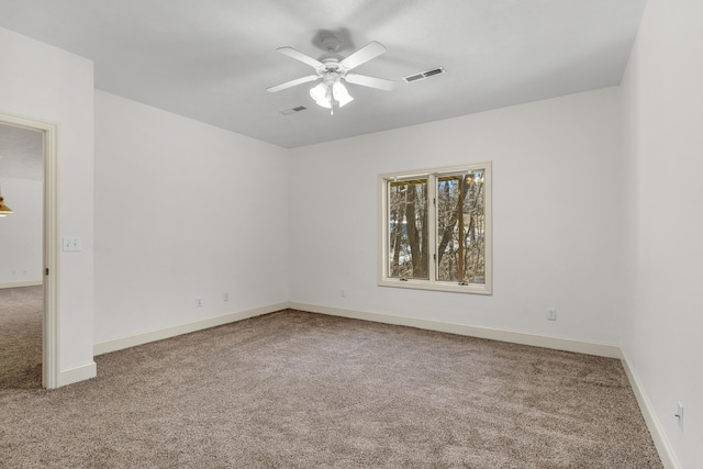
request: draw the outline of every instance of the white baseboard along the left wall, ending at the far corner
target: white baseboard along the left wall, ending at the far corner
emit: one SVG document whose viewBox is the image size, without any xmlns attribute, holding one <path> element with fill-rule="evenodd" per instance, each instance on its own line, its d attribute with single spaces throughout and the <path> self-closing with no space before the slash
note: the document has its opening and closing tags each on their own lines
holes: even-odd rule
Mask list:
<svg viewBox="0 0 703 469">
<path fill-rule="evenodd" d="M 268 306 L 255 308 L 252 310 L 230 313 L 222 316 L 209 317 L 192 323 L 180 324 L 125 337 L 113 338 L 110 340 L 93 344 L 93 355 L 108 354 L 110 351 L 121 350 L 123 348 L 135 347 L 137 345 L 148 344 L 149 342 L 163 340 L 165 338 L 176 337 L 178 335 L 191 332 L 202 331 L 210 327 L 221 326 L 223 324 L 234 323 L 249 317 L 260 316 L 263 314 L 274 313 L 276 311 L 286 310 L 288 303 L 276 303 Z"/>
</svg>

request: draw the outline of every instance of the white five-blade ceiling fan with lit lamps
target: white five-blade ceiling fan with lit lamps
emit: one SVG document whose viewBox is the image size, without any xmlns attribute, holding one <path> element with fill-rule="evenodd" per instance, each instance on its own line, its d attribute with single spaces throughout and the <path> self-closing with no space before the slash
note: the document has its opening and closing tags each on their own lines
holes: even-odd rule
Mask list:
<svg viewBox="0 0 703 469">
<path fill-rule="evenodd" d="M 322 40 L 322 46 L 327 54 L 317 60 L 292 47 L 280 47 L 277 51 L 303 64 L 308 64 L 315 69 L 315 75 L 298 78 L 295 80 L 286 81 L 284 83 L 267 88 L 269 92 L 277 92 L 298 85 L 308 83 L 310 81 L 321 80 L 321 82 L 310 90 L 310 96 L 315 102 L 330 109 L 330 113 L 334 114 L 334 108 L 342 108 L 354 98 L 349 96 L 342 80 L 362 87 L 376 88 L 379 90 L 390 91 L 395 87 L 395 82 L 382 78 L 369 77 L 366 75 L 350 74 L 349 70 L 366 64 L 372 58 L 386 52 L 382 44 L 372 41 L 366 46 L 353 53 L 344 59 L 339 59 L 335 53 L 339 48 L 339 40 L 335 36 L 328 36 Z"/>
</svg>

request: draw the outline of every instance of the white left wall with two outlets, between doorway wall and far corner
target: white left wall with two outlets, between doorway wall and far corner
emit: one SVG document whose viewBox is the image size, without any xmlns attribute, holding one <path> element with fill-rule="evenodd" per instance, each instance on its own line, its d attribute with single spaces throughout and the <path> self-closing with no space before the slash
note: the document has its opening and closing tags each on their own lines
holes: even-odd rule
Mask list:
<svg viewBox="0 0 703 469">
<path fill-rule="evenodd" d="M 97 91 L 96 342 L 284 304 L 287 198 L 284 148 Z"/>
</svg>

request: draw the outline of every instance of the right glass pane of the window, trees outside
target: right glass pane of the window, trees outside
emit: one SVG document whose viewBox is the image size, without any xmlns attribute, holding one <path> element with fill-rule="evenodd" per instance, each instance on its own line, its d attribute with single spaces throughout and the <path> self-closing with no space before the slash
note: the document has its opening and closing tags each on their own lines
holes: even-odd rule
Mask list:
<svg viewBox="0 0 703 469">
<path fill-rule="evenodd" d="M 486 281 L 483 172 L 437 178 L 438 281 Z"/>
</svg>

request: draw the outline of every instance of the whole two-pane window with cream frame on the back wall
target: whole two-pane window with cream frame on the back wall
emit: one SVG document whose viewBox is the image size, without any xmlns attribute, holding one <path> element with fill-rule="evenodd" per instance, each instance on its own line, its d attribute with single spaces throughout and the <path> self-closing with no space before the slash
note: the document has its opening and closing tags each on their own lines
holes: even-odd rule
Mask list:
<svg viewBox="0 0 703 469">
<path fill-rule="evenodd" d="M 492 293 L 491 164 L 381 175 L 379 284 Z"/>
</svg>

